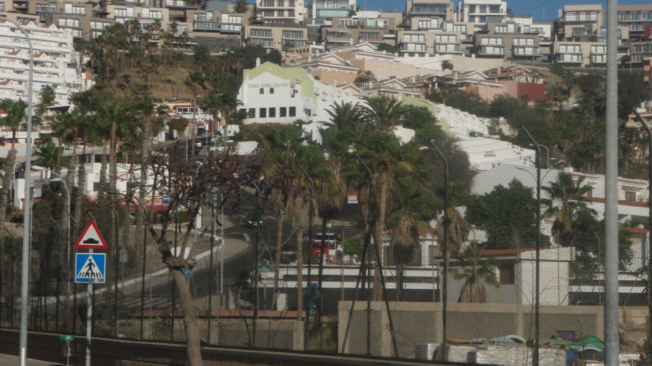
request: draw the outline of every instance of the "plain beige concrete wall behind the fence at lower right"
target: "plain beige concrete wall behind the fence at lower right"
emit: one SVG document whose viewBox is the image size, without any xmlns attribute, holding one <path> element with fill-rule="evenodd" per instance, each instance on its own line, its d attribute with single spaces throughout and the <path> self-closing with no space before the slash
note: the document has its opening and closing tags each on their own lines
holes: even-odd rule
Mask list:
<svg viewBox="0 0 652 366">
<path fill-rule="evenodd" d="M 351 302 L 339 303 L 338 349 L 342 350 Z M 399 356 L 414 357 L 417 343 L 440 343 L 441 303 L 390 302 Z M 372 302 L 371 351 L 392 355 L 391 333 L 383 302 Z M 631 308 L 628 308 L 631 309 Z M 644 308 L 628 314 L 647 316 Z M 492 339 L 519 335 L 531 339 L 534 334 L 534 312 L 531 305 L 504 303 L 449 303 L 447 338 Z M 621 313 L 624 311 L 621 309 Z M 541 305 L 541 337 L 550 337 L 558 330 L 574 330 L 582 335 L 602 337 L 603 308 L 599 306 Z M 621 315 L 622 317 L 622 315 Z M 640 320 L 640 319 L 639 319 Z M 632 320 L 636 322 L 636 320 Z M 349 326 L 345 353 L 366 352 L 366 302 L 356 302 Z"/>
</svg>

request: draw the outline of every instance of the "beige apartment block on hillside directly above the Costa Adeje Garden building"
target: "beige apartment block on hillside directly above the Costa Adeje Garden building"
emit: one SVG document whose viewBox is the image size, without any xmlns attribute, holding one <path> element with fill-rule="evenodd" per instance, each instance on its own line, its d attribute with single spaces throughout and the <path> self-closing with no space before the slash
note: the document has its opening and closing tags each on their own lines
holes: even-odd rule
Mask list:
<svg viewBox="0 0 652 366">
<path fill-rule="evenodd" d="M 267 49 L 283 49 L 284 45 L 302 47 L 308 43 L 308 29 L 274 27 L 271 25 L 244 25 L 241 32 L 243 44 Z"/>
</svg>

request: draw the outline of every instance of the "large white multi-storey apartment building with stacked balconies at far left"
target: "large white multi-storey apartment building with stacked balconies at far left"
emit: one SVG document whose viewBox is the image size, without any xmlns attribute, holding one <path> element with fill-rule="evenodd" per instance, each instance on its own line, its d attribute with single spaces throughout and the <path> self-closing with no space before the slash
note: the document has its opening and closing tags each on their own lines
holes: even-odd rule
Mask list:
<svg viewBox="0 0 652 366">
<path fill-rule="evenodd" d="M 34 47 L 33 98 L 38 102 L 38 92 L 45 85 L 55 91 L 53 107 L 68 106 L 74 92 L 92 86 L 90 74 L 80 67 L 72 46 L 72 33 L 56 25 L 38 26 L 23 23 L 23 28 Z M 0 99 L 27 101 L 29 91 L 29 46 L 23 33 L 8 21 L 0 19 Z"/>
</svg>

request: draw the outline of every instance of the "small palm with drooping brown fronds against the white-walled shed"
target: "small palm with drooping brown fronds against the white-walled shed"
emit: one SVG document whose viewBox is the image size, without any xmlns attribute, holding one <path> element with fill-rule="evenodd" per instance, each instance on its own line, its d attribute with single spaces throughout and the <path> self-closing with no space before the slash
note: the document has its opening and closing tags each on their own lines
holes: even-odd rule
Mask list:
<svg viewBox="0 0 652 366">
<path fill-rule="evenodd" d="M 482 260 L 481 253 L 481 247 L 467 246 L 462 259 L 463 270 L 451 270 L 455 279 L 464 279 L 458 302 L 486 303 L 487 291 L 484 283 L 500 287 L 494 260 L 492 258 Z"/>
</svg>

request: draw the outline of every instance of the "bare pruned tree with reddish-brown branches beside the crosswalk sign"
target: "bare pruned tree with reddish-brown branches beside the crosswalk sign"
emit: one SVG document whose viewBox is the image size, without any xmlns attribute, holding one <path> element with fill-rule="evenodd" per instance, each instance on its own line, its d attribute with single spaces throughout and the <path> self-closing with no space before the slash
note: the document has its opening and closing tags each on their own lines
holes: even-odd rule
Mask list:
<svg viewBox="0 0 652 366">
<path fill-rule="evenodd" d="M 196 259 L 192 255 L 185 257 L 185 253 L 194 253 L 197 242 L 192 239 L 193 232 L 207 231 L 207 227 L 196 227 L 201 208 L 215 208 L 219 210 L 228 201 L 239 202 L 241 188 L 248 185 L 250 176 L 258 176 L 252 172 L 252 164 L 225 152 L 207 156 L 198 156 L 194 161 L 186 160 L 183 148 L 173 147 L 165 153 L 154 152 L 150 158 L 149 173 L 151 177 L 145 190 L 151 203 L 156 197 L 169 197 L 168 206 L 157 215 L 148 214 L 147 204 L 134 202 L 132 197 L 126 197 L 132 204 L 137 204 L 140 209 L 138 214 L 143 219 L 147 230 L 153 237 L 161 254 L 162 261 L 168 266 L 175 281 L 184 318 L 183 325 L 186 333 L 188 348 L 188 361 L 191 366 L 203 365 L 200 348 L 200 332 L 196 311 L 192 304 L 192 295 L 188 282 L 182 270 L 194 268 Z M 222 199 L 216 199 L 216 190 L 222 193 Z M 148 198 L 145 199 L 147 201 Z M 151 206 L 150 206 L 151 207 Z M 183 232 L 180 250 L 173 252 L 173 241 L 168 239 L 168 227 L 174 222 L 175 212 L 184 208 L 188 215 L 188 227 Z M 157 225 L 155 228 L 154 225 Z M 219 223 L 218 225 L 223 225 Z"/>
</svg>

